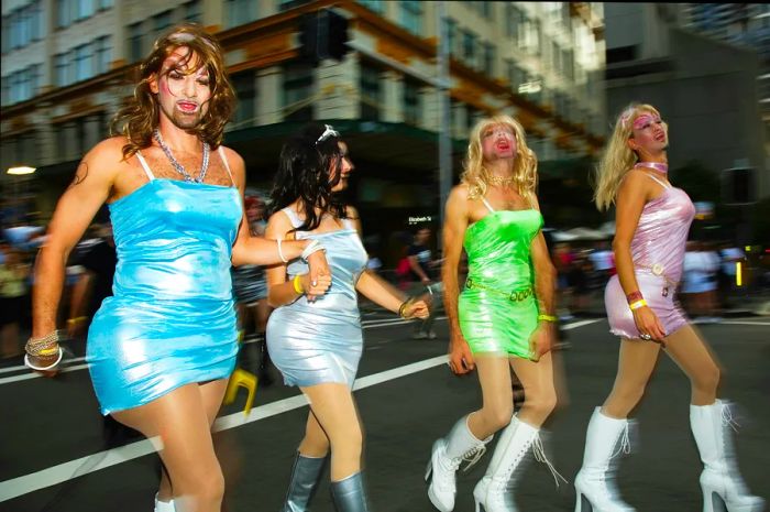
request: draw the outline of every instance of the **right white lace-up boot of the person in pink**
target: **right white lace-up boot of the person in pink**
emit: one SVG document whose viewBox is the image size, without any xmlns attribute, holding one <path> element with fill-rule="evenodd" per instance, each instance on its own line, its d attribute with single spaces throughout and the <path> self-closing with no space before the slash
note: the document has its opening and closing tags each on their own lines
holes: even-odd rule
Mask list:
<svg viewBox="0 0 770 512">
<path fill-rule="evenodd" d="M 765 500 L 751 495 L 738 472 L 728 431 L 734 427 L 728 405 L 721 400 L 711 405 L 691 405 L 690 426 L 703 461 L 704 512 L 712 512 L 715 508 L 726 508 L 729 512 L 761 511 Z"/>
</svg>

